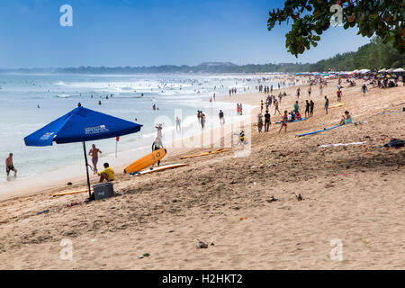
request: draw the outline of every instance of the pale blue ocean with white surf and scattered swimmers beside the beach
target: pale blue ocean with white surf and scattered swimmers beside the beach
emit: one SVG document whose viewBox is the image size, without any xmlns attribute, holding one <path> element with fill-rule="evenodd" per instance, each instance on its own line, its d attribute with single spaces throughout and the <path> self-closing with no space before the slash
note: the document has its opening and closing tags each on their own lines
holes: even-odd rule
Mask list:
<svg viewBox="0 0 405 288">
<path fill-rule="evenodd" d="M 182 135 L 188 137 L 201 132 L 196 112 L 202 110 L 207 116 L 208 128 L 218 127 L 220 109 L 226 120 L 238 119 L 236 103 L 221 103 L 219 97 L 229 96 L 229 88 L 233 87 L 238 89 L 238 94 L 256 92 L 255 87 L 261 84 L 276 87 L 277 80 L 264 81 L 260 75 L 3 74 L 0 76 L 0 157 L 5 159 L 10 152 L 14 153 L 18 175 L 13 181 L 83 164 L 81 143 L 37 148 L 26 147 L 23 142 L 24 137 L 81 103 L 85 108 L 143 125 L 139 133 L 121 137 L 118 145 L 115 139 L 94 142 L 103 151 L 99 166 L 103 157 L 115 155 L 116 147 L 118 151 L 133 150 L 131 161 L 134 161 L 151 149 L 157 122 L 164 124 L 165 133 L 175 133 L 175 115 L 180 115 Z M 212 98 L 211 104 L 214 93 L 216 101 Z M 152 109 L 154 104 L 158 110 Z M 244 113 L 248 114 L 252 108 L 244 105 Z M 165 138 L 163 143 L 165 145 Z M 86 143 L 87 151 L 91 144 Z M 11 178 L 6 177 L 4 168 L 0 191 L 2 184 Z"/>
</svg>

